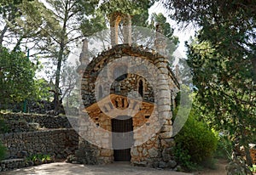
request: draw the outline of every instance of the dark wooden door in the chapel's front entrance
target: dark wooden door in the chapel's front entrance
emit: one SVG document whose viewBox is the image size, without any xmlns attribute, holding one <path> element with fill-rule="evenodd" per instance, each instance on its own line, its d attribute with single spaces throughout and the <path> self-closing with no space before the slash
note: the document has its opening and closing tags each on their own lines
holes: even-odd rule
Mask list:
<svg viewBox="0 0 256 175">
<path fill-rule="evenodd" d="M 131 146 L 133 144 L 132 131 L 132 118 L 130 116 L 118 116 L 112 119 L 114 161 L 131 161 Z M 131 133 L 128 134 L 127 132 Z M 124 147 L 125 149 L 120 149 Z"/>
</svg>

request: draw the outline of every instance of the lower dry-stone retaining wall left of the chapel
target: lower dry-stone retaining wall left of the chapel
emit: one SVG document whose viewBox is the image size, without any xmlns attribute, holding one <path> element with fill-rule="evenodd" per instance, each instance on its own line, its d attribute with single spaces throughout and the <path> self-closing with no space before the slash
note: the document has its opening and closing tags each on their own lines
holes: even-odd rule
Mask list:
<svg viewBox="0 0 256 175">
<path fill-rule="evenodd" d="M 79 135 L 73 129 L 50 129 L 28 133 L 0 134 L 0 141 L 7 148 L 6 159 L 27 155 L 55 155 L 67 158 L 78 149 Z"/>
</svg>

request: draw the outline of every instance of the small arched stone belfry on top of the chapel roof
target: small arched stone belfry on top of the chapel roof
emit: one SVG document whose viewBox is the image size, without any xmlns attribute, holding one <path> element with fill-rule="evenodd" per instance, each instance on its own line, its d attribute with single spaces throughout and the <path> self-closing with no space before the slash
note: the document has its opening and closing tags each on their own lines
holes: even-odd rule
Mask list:
<svg viewBox="0 0 256 175">
<path fill-rule="evenodd" d="M 119 44 L 119 24 L 123 22 L 124 43 L 131 44 L 131 15 L 115 12 L 110 14 L 111 45 Z"/>
</svg>

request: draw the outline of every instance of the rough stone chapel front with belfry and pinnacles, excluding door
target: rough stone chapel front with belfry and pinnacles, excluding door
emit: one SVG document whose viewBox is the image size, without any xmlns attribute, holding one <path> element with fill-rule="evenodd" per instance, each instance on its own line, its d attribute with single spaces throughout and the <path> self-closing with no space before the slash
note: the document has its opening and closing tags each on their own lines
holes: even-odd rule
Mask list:
<svg viewBox="0 0 256 175">
<path fill-rule="evenodd" d="M 175 144 L 172 139 L 172 108 L 179 90 L 177 78 L 163 55 L 142 46 L 132 46 L 129 38 L 126 38 L 128 42 L 118 44 L 117 38 L 113 38 L 117 33 L 116 24 L 122 18 L 128 19 L 129 23 L 130 16 L 113 15 L 111 18 L 113 48 L 89 61 L 88 55 L 84 56 L 88 48 L 85 41 L 80 57 L 81 94 L 85 108 L 80 116 L 79 134 L 83 137 L 79 139 L 78 161 L 85 164 L 113 162 L 117 150 L 113 143 L 113 120 L 119 116 L 130 116 L 131 164 L 174 168 L 177 163 L 172 156 Z M 156 37 L 155 45 L 163 53 L 163 38 Z M 117 64 L 111 65 L 115 60 L 118 60 Z M 157 73 L 152 74 L 154 68 L 151 65 Z M 81 71 L 81 67 L 86 69 Z M 116 114 L 116 109 L 122 112 Z M 147 138 L 152 129 L 155 133 Z"/>
</svg>

